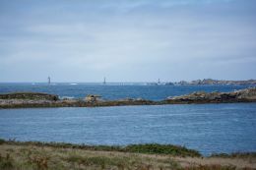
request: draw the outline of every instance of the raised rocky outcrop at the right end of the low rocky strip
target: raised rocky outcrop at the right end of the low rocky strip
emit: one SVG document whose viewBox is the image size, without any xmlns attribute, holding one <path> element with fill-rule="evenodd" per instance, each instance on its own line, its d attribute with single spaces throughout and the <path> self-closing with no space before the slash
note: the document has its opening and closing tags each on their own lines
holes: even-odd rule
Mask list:
<svg viewBox="0 0 256 170">
<path fill-rule="evenodd" d="M 232 92 L 197 91 L 186 95 L 168 97 L 167 103 L 225 103 L 256 101 L 256 87 L 236 90 Z"/>
</svg>

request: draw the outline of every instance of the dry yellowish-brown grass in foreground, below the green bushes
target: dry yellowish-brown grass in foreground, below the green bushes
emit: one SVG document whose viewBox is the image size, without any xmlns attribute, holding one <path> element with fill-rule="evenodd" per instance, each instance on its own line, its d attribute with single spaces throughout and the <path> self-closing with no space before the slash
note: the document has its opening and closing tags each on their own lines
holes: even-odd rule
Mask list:
<svg viewBox="0 0 256 170">
<path fill-rule="evenodd" d="M 33 144 L 0 144 L 1 170 L 255 169 L 255 157 L 180 157 Z"/>
</svg>

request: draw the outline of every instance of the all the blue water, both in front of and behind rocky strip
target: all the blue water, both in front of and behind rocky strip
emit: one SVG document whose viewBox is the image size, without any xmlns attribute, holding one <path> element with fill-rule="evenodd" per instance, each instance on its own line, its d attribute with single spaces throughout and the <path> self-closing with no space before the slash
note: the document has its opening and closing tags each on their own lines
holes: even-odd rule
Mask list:
<svg viewBox="0 0 256 170">
<path fill-rule="evenodd" d="M 196 90 L 244 85 L 0 84 L 0 92 L 41 91 L 60 96 L 160 100 Z M 173 143 L 205 155 L 256 151 L 256 103 L 177 104 L 97 108 L 0 109 L 0 138 L 87 144 Z"/>
</svg>

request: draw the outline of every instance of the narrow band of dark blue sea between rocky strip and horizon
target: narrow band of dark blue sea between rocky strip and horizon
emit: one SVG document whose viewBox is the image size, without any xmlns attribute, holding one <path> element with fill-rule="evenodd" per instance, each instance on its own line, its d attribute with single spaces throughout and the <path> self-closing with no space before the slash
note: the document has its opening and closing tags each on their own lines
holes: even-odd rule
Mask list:
<svg viewBox="0 0 256 170">
<path fill-rule="evenodd" d="M 168 96 L 193 91 L 232 91 L 250 85 L 146 85 L 146 84 L 0 84 L 0 93 L 36 91 L 58 94 L 60 97 L 85 97 L 98 94 L 104 99 L 138 98 L 162 100 Z"/>
</svg>

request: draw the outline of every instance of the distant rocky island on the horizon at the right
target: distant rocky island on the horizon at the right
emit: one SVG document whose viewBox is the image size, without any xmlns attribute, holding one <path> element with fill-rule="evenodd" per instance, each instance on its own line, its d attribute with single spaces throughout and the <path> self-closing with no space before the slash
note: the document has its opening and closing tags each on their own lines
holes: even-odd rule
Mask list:
<svg viewBox="0 0 256 170">
<path fill-rule="evenodd" d="M 180 82 L 168 82 L 168 83 L 149 83 L 147 85 L 256 85 L 256 80 L 247 81 L 224 81 L 224 80 L 213 80 L 203 79 L 196 81 L 180 81 Z"/>
</svg>

